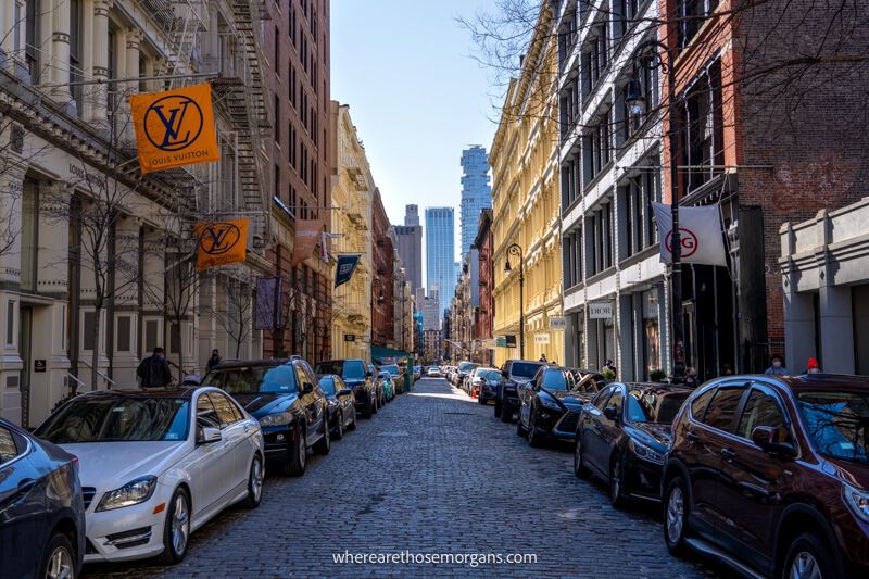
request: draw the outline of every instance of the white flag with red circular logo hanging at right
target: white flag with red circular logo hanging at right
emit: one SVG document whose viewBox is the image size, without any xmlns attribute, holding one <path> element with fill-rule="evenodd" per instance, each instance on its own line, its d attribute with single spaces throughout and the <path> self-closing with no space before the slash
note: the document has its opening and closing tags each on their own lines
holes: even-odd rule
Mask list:
<svg viewBox="0 0 869 579">
<path fill-rule="evenodd" d="M 652 203 L 658 223 L 660 261 L 672 260 L 672 213 L 670 205 Z M 725 240 L 721 234 L 721 217 L 718 205 L 679 207 L 679 241 L 682 262 L 727 266 Z"/>
</svg>

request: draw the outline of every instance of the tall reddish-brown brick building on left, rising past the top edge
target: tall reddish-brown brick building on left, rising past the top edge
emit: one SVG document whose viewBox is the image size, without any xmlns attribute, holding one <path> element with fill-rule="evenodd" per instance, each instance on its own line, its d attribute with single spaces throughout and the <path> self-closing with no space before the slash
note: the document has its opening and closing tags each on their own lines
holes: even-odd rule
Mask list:
<svg viewBox="0 0 869 579">
<path fill-rule="evenodd" d="M 297 256 L 297 224 L 328 224 L 329 196 L 329 0 L 269 0 L 264 56 L 269 87 L 273 143 L 272 248 L 274 275 L 282 279 L 281 327 L 266 331 L 266 357 L 300 354 L 316 363 L 330 357 L 331 276 L 316 248 Z"/>
</svg>

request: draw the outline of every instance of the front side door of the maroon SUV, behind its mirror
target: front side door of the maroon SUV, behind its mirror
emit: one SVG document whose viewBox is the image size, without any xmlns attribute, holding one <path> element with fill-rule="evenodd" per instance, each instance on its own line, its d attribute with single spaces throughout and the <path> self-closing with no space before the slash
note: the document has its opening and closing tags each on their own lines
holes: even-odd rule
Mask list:
<svg viewBox="0 0 869 579">
<path fill-rule="evenodd" d="M 778 442 L 793 444 L 790 420 L 778 397 L 766 386 L 755 385 L 745 399 L 735 429 L 736 439 L 726 449 L 725 476 L 718 501 L 728 505 L 721 519 L 721 538 L 736 546 L 754 565 L 765 568 L 773 552 L 772 525 L 781 508 L 781 487 L 786 483 L 789 458 L 771 456 L 752 442 L 758 426 L 776 429 Z"/>
</svg>

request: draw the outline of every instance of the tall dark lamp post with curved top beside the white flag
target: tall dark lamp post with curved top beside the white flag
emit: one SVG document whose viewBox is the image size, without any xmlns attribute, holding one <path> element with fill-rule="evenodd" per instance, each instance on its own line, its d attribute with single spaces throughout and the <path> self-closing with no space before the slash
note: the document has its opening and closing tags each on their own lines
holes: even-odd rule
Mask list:
<svg viewBox="0 0 869 579">
<path fill-rule="evenodd" d="M 673 49 L 667 47 L 658 40 L 646 40 L 637 48 L 637 53 L 642 55 L 650 48 L 657 51 L 658 66 L 667 75 L 667 140 L 670 154 L 670 211 L 672 215 L 672 229 L 670 232 L 670 284 L 672 288 L 672 351 L 673 351 L 673 375 L 684 370 L 683 351 L 683 324 L 682 314 L 682 240 L 679 230 L 679 167 L 677 155 L 679 154 L 679 117 L 677 114 L 676 101 L 676 71 L 673 70 Z M 666 61 L 665 55 L 666 54 Z M 650 63 L 652 64 L 652 63 Z M 640 62 L 643 66 L 643 63 Z M 635 76 L 628 81 L 625 93 L 625 104 L 628 105 L 630 115 L 639 115 L 645 109 L 645 98 L 640 79 Z M 666 239 L 660 240 L 667 242 Z M 666 247 L 666 246 L 665 246 Z M 680 363 L 682 363 L 680 365 Z"/>
</svg>

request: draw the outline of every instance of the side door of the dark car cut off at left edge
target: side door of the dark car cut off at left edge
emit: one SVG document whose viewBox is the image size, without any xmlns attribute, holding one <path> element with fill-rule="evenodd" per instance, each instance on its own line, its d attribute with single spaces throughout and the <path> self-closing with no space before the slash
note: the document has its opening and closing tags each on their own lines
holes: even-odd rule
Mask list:
<svg viewBox="0 0 869 579">
<path fill-rule="evenodd" d="M 28 445 L 24 437 L 0 425 L 0 562 L 10 577 L 33 574 L 48 531 L 46 481 L 39 480 L 26 454 Z"/>
</svg>

